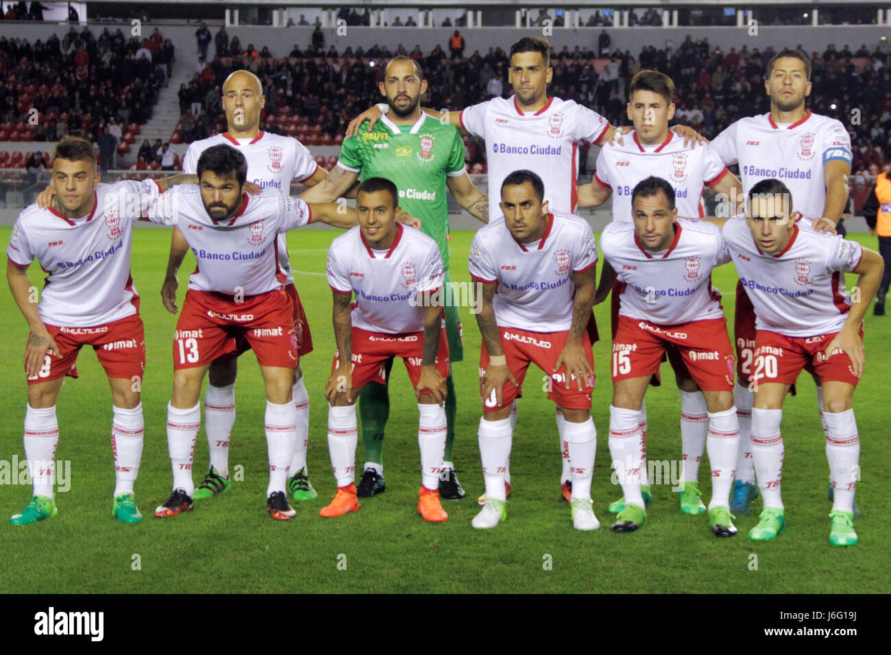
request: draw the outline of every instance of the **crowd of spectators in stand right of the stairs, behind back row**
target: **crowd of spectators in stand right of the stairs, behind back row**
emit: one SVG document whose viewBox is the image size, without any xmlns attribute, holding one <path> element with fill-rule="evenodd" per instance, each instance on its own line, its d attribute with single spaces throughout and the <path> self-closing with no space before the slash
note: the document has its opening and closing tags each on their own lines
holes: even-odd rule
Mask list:
<svg viewBox="0 0 891 655">
<path fill-rule="evenodd" d="M 234 38 L 233 38 L 234 40 Z M 773 48 L 749 48 L 727 52 L 712 45 L 707 38 L 684 38 L 675 49 L 648 45 L 636 55 L 630 51 L 609 52 L 609 34 L 601 31 L 597 50 L 607 49 L 609 61 L 601 61 L 590 48 L 563 47 L 553 54 L 554 69 L 549 91 L 563 99 L 575 100 L 599 111 L 611 123 L 624 125 L 625 93 L 638 70 L 661 70 L 674 79 L 676 86 L 675 120 L 691 125 L 713 138 L 733 121 L 743 116 L 763 113 L 770 107 L 764 92 L 764 72 Z M 231 42 L 230 42 L 231 44 Z M 801 47 L 800 45 L 798 47 Z M 249 51 L 256 53 L 253 45 Z M 224 51 L 225 52 L 225 51 Z M 493 96 L 509 96 L 508 57 L 500 47 L 486 53 L 474 51 L 468 57 L 449 59 L 446 50 L 436 45 L 424 52 L 421 45 L 408 51 L 404 45 L 390 50 L 388 45 L 373 45 L 367 51 L 347 47 L 339 52 L 323 42 L 290 52 L 269 53 L 274 58 L 215 57 L 196 72 L 190 85 L 180 90 L 184 114 L 182 138 L 185 142 L 212 134 L 225 125 L 218 89 L 232 71 L 249 68 L 257 73 L 266 95 L 266 116 L 276 115 L 284 107 L 300 117 L 301 122 L 321 127 L 330 135 L 323 143 L 338 143 L 347 122 L 374 102 L 380 101 L 377 82 L 380 62 L 396 54 L 409 56 L 421 64 L 429 84 L 421 99 L 425 106 L 458 109 Z M 264 48 L 263 53 L 268 53 Z M 813 92 L 807 107 L 817 113 L 842 120 L 848 126 L 854 145 L 854 171 L 881 168 L 891 160 L 891 69 L 887 41 L 870 48 L 830 45 L 812 55 Z M 375 61 L 378 65 L 372 66 Z M 599 71 L 599 72 L 598 72 Z M 266 128 L 277 131 L 274 123 Z M 191 138 L 189 138 L 191 137 Z M 312 144 L 312 143 L 310 143 Z M 468 146 L 471 163 L 484 161 L 485 149 L 473 142 Z"/>
</svg>

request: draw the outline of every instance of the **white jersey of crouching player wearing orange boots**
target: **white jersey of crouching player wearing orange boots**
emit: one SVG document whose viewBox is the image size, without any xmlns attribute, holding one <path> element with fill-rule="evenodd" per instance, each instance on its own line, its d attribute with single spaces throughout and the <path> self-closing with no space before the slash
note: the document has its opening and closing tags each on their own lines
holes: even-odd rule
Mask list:
<svg viewBox="0 0 891 655">
<path fill-rule="evenodd" d="M 331 242 L 328 284 L 339 293 L 356 293 L 353 327 L 385 334 L 424 329 L 418 294 L 442 287 L 442 256 L 427 234 L 401 223 L 396 229 L 389 250 L 372 250 L 359 225 Z"/>
</svg>

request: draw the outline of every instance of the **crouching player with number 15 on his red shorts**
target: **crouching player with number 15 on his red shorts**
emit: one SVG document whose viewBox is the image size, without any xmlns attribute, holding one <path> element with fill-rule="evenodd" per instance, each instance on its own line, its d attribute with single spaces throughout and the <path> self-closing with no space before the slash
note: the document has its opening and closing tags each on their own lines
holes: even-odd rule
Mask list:
<svg viewBox="0 0 891 655">
<path fill-rule="evenodd" d="M 639 412 L 667 353 L 678 380 L 690 380 L 686 393 L 701 390 L 705 399 L 703 440 L 712 479 L 708 524 L 715 536 L 733 536 L 737 530 L 729 503 L 740 438 L 733 406 L 733 347 L 711 286 L 712 268 L 730 258 L 715 225 L 678 217 L 674 194 L 672 184 L 661 177 L 643 179 L 631 192 L 634 223 L 613 221 L 601 235 L 601 252 L 621 285 L 612 347 L 609 453 L 625 499 L 612 529 L 633 532 L 646 523 Z M 684 460 L 686 472 L 686 447 Z M 683 480 L 685 488 L 690 485 Z M 696 495 L 694 501 L 701 502 L 698 489 Z"/>
</svg>

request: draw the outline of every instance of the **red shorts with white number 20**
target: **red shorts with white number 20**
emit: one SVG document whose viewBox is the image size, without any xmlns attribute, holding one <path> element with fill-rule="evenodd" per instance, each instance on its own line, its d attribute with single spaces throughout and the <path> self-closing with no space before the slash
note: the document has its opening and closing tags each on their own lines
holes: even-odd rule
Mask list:
<svg viewBox="0 0 891 655">
<path fill-rule="evenodd" d="M 759 330 L 755 339 L 755 362 L 752 364 L 752 384 L 780 382 L 793 384 L 798 373 L 805 369 L 821 382 L 848 382 L 857 386 L 851 358 L 836 348 L 827 357 L 823 351 L 838 332 L 819 337 L 787 337 L 778 332 Z M 863 338 L 863 331 L 860 331 Z"/>
</svg>

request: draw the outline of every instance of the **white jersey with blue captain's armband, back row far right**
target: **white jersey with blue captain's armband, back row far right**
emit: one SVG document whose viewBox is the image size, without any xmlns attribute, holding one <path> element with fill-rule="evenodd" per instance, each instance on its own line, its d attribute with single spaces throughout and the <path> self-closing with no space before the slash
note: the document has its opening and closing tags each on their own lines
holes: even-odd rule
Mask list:
<svg viewBox="0 0 891 655">
<path fill-rule="evenodd" d="M 792 193 L 792 208 L 815 218 L 826 204 L 823 166 L 852 159 L 845 126 L 810 111 L 791 125 L 774 123 L 770 113 L 740 119 L 717 135 L 712 148 L 728 166 L 740 164 L 747 194 L 761 180 L 778 179 Z"/>
</svg>

